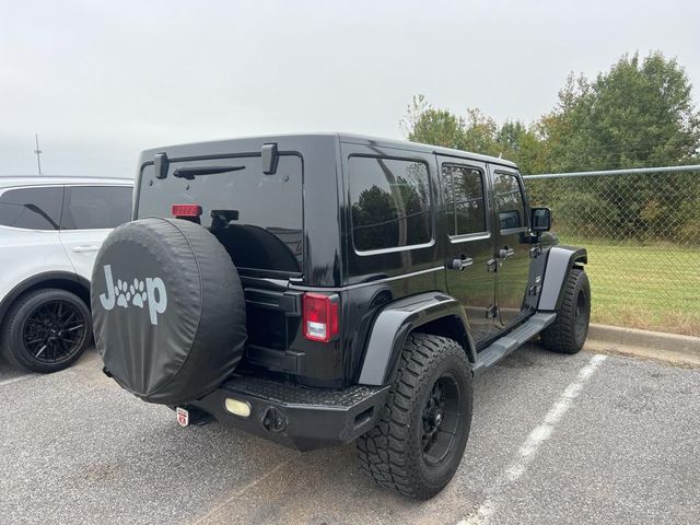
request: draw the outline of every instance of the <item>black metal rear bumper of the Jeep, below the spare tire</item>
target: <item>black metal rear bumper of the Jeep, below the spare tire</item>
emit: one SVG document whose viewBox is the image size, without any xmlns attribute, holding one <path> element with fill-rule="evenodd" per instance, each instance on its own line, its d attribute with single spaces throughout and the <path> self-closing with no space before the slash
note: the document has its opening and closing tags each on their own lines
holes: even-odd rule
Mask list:
<svg viewBox="0 0 700 525">
<path fill-rule="evenodd" d="M 348 443 L 375 425 L 388 386 L 311 388 L 258 377 L 238 376 L 191 402 L 219 422 L 300 451 Z M 247 402 L 250 415 L 235 416 L 226 398 Z"/>
</svg>

